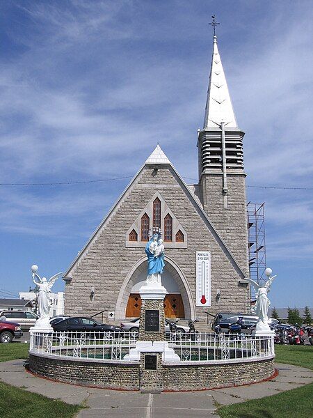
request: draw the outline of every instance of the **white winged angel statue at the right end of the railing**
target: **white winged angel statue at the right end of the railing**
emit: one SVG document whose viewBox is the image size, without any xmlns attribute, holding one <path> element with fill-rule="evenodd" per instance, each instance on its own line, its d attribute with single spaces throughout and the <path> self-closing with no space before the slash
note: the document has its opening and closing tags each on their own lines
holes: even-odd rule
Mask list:
<svg viewBox="0 0 313 418">
<path fill-rule="evenodd" d="M 272 274 L 271 268 L 266 268 L 265 274 L 268 277 L 266 284 L 258 284 L 256 281 L 252 279 L 247 279 L 248 281 L 250 281 L 250 284 L 252 284 L 252 286 L 255 288 L 255 292 L 257 293 L 257 303 L 255 305 L 255 313 L 259 317 L 259 322 L 257 323 L 257 330 L 269 330 L 267 312 L 271 302 L 269 301 L 267 294 L 270 291 L 271 285 L 276 276 L 270 277 Z"/>
</svg>

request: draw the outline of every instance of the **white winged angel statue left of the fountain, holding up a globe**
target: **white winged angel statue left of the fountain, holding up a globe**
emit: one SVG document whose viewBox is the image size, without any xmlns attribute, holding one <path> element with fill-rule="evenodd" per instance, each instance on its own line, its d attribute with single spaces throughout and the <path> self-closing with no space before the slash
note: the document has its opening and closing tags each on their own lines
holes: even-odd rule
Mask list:
<svg viewBox="0 0 313 418">
<path fill-rule="evenodd" d="M 51 288 L 58 279 L 58 276 L 62 274 L 62 272 L 54 274 L 54 276 L 50 277 L 49 280 L 46 277 L 40 277 L 37 274 L 38 266 L 32 265 L 31 271 L 33 272 L 33 282 L 38 288 L 38 315 L 39 320 L 49 319 L 49 311 L 51 307 Z M 37 278 L 39 281 L 35 280 Z"/>
</svg>

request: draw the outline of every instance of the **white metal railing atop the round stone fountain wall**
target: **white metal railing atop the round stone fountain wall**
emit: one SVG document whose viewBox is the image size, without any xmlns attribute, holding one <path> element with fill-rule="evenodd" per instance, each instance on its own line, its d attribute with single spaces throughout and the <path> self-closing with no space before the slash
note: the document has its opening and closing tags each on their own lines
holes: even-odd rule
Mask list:
<svg viewBox="0 0 313 418">
<path fill-rule="evenodd" d="M 167 333 L 166 339 L 173 349 L 173 361 L 177 361 L 177 355 L 182 362 L 233 362 L 274 355 L 273 336 L 199 332 L 183 335 Z M 114 361 L 124 359 L 135 346 L 136 336 L 129 332 L 33 332 L 30 352 L 56 357 Z"/>
</svg>

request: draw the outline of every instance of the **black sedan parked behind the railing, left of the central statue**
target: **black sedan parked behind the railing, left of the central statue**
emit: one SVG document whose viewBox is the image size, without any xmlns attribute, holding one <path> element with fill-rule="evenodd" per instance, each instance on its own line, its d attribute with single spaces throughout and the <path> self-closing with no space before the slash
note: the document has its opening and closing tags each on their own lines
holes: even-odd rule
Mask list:
<svg viewBox="0 0 313 418">
<path fill-rule="evenodd" d="M 51 327 L 56 332 L 72 331 L 80 333 L 86 331 L 93 331 L 101 333 L 123 331 L 121 327 L 116 327 L 115 325 L 102 324 L 93 318 L 88 318 L 87 316 L 74 316 L 72 318 L 60 320 L 56 323 L 52 322 Z"/>
</svg>

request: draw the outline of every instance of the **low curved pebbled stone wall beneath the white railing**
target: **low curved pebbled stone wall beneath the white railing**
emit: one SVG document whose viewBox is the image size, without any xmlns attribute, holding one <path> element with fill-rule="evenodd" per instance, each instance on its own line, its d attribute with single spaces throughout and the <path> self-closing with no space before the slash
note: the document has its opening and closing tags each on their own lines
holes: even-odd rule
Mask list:
<svg viewBox="0 0 313 418">
<path fill-rule="evenodd" d="M 29 369 L 33 373 L 60 382 L 103 387 L 106 389 L 141 389 L 143 364 L 123 360 L 105 362 L 90 359 L 62 359 L 30 353 Z M 273 376 L 274 356 L 241 362 L 162 363 L 163 390 L 201 390 L 259 382 Z M 154 373 L 151 373 L 152 379 Z M 147 382 L 143 382 L 146 385 Z"/>
</svg>

